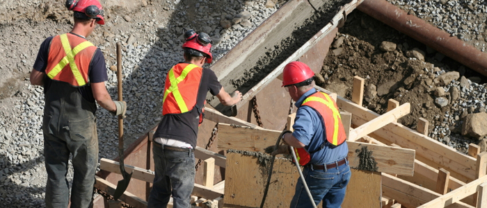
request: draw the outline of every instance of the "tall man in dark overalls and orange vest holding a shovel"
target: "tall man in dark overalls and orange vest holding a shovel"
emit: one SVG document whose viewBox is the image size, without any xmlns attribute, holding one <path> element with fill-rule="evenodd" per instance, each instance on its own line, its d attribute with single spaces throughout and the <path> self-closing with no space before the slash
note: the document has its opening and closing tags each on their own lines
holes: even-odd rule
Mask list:
<svg viewBox="0 0 487 208">
<path fill-rule="evenodd" d="M 97 0 L 66 1 L 73 10 L 70 33 L 48 37 L 42 42 L 31 71 L 31 84 L 43 85 L 45 108 L 42 121 L 47 171 L 46 207 L 90 207 L 98 164 L 95 101 L 113 115 L 125 114 L 124 102 L 112 101 L 106 91 L 102 51 L 86 37 L 97 24 L 104 24 L 103 8 Z M 72 190 L 66 179 L 72 155 Z"/>
</svg>

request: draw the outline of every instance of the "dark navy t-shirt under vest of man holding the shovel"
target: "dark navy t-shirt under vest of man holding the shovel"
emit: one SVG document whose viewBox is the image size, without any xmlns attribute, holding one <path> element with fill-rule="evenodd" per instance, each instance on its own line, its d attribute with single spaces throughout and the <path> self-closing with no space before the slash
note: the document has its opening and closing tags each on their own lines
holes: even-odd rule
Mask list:
<svg viewBox="0 0 487 208">
<path fill-rule="evenodd" d="M 81 37 L 80 35 L 78 36 Z M 40 44 L 40 49 L 37 54 L 37 58 L 35 58 L 33 66 L 35 70 L 45 72 L 47 67 L 47 58 L 49 56 L 49 47 L 51 46 L 51 40 L 53 37 L 54 36 L 47 37 L 47 39 L 44 40 L 42 44 Z M 88 85 L 78 87 L 79 93 L 81 93 L 81 96 L 83 96 L 83 98 L 85 98 L 87 101 L 94 103 L 95 98 L 93 97 L 93 92 L 91 91 L 91 86 L 89 85 L 89 83 L 102 83 L 106 80 L 109 80 L 109 78 L 106 74 L 105 58 L 102 51 L 97 49 L 95 51 L 95 55 L 93 55 L 93 58 L 91 59 L 90 67 L 88 69 Z M 50 78 L 45 78 L 44 92 L 47 92 L 52 81 L 53 80 L 51 80 Z"/>
</svg>

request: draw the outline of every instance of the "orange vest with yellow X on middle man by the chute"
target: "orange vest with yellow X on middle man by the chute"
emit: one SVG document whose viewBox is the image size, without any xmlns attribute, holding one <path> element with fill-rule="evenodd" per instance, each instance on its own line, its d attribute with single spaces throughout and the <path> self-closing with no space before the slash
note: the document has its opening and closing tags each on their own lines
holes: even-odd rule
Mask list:
<svg viewBox="0 0 487 208">
<path fill-rule="evenodd" d="M 164 86 L 162 115 L 182 114 L 195 107 L 202 73 L 202 67 L 188 63 L 176 64 L 169 70 Z M 202 116 L 200 115 L 200 123 L 201 120 Z"/>
</svg>

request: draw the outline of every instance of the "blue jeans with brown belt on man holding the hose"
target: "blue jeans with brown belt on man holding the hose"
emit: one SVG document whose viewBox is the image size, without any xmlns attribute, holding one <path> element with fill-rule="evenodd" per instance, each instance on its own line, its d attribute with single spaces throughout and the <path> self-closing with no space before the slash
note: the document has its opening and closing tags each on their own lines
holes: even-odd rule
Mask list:
<svg viewBox="0 0 487 208">
<path fill-rule="evenodd" d="M 346 164 L 328 170 L 312 170 L 310 166 L 305 166 L 303 175 L 316 205 L 321 200 L 323 200 L 323 207 L 337 208 L 342 205 L 345 198 L 346 185 L 349 184 L 351 177 L 348 161 Z M 296 183 L 296 192 L 290 207 L 312 207 L 310 197 L 306 193 L 301 178 L 298 178 Z"/>
</svg>

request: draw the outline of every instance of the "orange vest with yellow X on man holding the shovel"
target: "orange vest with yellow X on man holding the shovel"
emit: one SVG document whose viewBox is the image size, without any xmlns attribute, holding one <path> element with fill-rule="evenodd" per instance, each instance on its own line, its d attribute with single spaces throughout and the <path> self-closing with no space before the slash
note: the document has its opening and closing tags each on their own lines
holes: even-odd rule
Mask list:
<svg viewBox="0 0 487 208">
<path fill-rule="evenodd" d="M 46 74 L 51 80 L 81 87 L 89 83 L 88 69 L 97 47 L 83 37 L 56 35 L 49 46 Z"/>
</svg>

